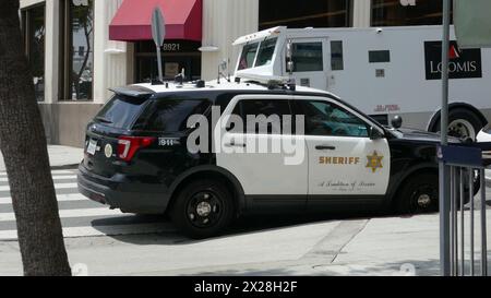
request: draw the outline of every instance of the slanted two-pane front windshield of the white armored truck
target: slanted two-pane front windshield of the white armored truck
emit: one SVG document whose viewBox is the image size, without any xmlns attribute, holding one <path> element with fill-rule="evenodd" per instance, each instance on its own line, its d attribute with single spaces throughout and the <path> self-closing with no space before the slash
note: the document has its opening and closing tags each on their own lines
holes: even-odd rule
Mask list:
<svg viewBox="0 0 491 298">
<path fill-rule="evenodd" d="M 262 43 L 253 43 L 243 46 L 242 55 L 240 56 L 239 70 L 271 64 L 277 40 L 278 38 L 275 37 L 265 39 Z"/>
</svg>

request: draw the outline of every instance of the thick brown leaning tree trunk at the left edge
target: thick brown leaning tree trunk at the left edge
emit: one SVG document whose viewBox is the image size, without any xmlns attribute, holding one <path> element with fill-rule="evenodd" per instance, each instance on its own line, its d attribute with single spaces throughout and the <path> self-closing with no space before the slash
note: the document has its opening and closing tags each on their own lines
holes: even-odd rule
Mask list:
<svg viewBox="0 0 491 298">
<path fill-rule="evenodd" d="M 45 130 L 24 56 L 19 0 L 0 10 L 0 150 L 25 275 L 70 275 Z"/>
</svg>

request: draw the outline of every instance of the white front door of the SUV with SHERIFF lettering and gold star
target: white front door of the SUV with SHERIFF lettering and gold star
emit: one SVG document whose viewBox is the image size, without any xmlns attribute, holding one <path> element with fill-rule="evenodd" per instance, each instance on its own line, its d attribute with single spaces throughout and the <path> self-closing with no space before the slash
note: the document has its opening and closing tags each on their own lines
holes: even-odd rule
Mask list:
<svg viewBox="0 0 491 298">
<path fill-rule="evenodd" d="M 295 99 L 296 112 L 306 117 L 309 204 L 315 200 L 345 201 L 384 195 L 391 156 L 386 139 L 371 140 L 369 136 L 375 124 L 330 98 Z"/>
</svg>

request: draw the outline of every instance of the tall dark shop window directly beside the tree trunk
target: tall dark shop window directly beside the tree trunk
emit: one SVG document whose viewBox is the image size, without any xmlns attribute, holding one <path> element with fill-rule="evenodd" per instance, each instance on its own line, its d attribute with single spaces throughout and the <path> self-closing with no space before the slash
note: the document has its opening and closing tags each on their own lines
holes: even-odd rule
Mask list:
<svg viewBox="0 0 491 298">
<path fill-rule="evenodd" d="M 37 102 L 45 100 L 45 4 L 22 10 L 24 45 Z"/>
</svg>

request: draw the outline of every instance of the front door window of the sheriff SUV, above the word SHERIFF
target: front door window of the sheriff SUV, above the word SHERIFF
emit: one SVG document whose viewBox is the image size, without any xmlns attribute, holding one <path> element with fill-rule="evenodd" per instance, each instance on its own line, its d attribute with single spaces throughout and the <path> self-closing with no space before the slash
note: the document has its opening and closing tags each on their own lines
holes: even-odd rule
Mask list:
<svg viewBox="0 0 491 298">
<path fill-rule="evenodd" d="M 368 124 L 348 110 L 328 102 L 297 100 L 306 118 L 307 135 L 368 138 Z"/>
</svg>

